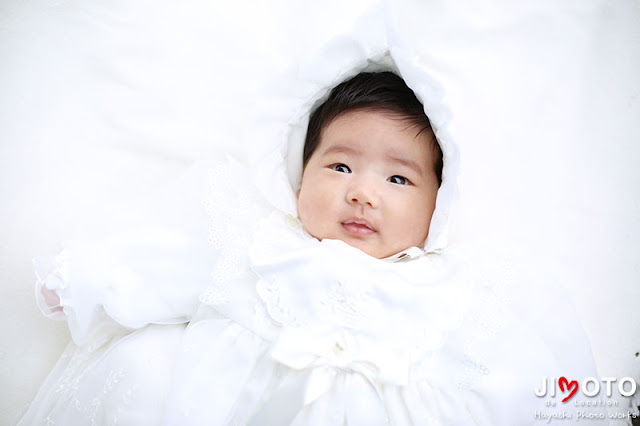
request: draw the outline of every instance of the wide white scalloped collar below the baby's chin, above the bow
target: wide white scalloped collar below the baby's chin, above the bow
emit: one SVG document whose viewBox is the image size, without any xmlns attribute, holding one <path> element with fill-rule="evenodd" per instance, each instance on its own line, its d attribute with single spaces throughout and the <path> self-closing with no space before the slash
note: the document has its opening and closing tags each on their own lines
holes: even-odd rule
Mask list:
<svg viewBox="0 0 640 426">
<path fill-rule="evenodd" d="M 250 252 L 257 292 L 289 333 L 341 335 L 365 351 L 358 359 L 391 349 L 413 358 L 438 349 L 469 308 L 473 280 L 462 262 L 432 255 L 388 263 L 290 223 L 272 214 Z"/>
</svg>

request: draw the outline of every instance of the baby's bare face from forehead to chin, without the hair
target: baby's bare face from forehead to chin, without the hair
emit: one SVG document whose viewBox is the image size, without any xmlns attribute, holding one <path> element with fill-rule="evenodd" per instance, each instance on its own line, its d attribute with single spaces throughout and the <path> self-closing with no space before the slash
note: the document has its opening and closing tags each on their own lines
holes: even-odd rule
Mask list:
<svg viewBox="0 0 640 426">
<path fill-rule="evenodd" d="M 298 213 L 315 238 L 384 258 L 427 238 L 438 178 L 431 132 L 383 112 L 333 120 L 302 175 Z"/>
</svg>

